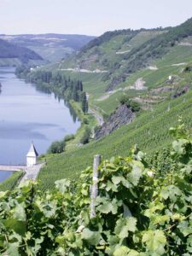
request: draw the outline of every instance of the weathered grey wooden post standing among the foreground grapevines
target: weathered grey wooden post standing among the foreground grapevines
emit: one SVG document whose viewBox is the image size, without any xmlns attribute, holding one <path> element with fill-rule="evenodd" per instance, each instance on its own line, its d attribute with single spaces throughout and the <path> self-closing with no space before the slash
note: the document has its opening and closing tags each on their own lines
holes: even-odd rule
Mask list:
<svg viewBox="0 0 192 256">
<path fill-rule="evenodd" d="M 96 196 L 98 195 L 98 167 L 101 164 L 101 155 L 96 154 L 93 161 L 93 184 L 90 189 L 90 218 L 96 216 Z"/>
</svg>

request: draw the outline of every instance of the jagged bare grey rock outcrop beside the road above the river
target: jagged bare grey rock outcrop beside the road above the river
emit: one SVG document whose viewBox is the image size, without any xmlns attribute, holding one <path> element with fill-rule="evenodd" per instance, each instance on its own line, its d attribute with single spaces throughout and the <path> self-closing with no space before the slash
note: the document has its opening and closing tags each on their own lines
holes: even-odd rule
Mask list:
<svg viewBox="0 0 192 256">
<path fill-rule="evenodd" d="M 96 139 L 107 136 L 117 130 L 121 125 L 131 123 L 134 117 L 135 113 L 133 113 L 130 108 L 127 108 L 125 105 L 119 106 L 108 118 L 108 121 L 96 131 Z"/>
</svg>

